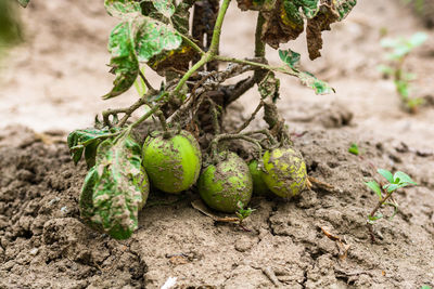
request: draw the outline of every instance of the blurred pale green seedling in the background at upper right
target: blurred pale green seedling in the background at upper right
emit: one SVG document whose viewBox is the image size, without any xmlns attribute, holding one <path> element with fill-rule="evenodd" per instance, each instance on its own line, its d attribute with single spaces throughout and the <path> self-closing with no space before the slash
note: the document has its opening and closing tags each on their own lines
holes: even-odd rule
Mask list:
<svg viewBox="0 0 434 289">
<path fill-rule="evenodd" d="M 407 56 L 416 48 L 422 45 L 427 39 L 426 34 L 417 32 L 409 39 L 406 38 L 386 38 L 381 41 L 381 45 L 391 50 L 386 54 L 391 66 L 380 65 L 379 70 L 385 76 L 392 77 L 396 91 L 400 95 L 403 104 L 410 113 L 416 113 L 418 107 L 423 104 L 423 98 L 410 96 L 410 82 L 416 80 L 417 76 L 406 71 L 404 65 Z"/>
</svg>

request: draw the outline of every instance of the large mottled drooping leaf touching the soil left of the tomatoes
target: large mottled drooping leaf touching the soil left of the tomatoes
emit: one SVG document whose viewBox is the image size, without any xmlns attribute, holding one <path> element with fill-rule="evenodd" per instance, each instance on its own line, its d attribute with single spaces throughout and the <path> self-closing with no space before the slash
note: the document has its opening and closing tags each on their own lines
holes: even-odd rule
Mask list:
<svg viewBox="0 0 434 289">
<path fill-rule="evenodd" d="M 98 147 L 97 163 L 85 179 L 80 214 L 92 228 L 126 239 L 138 227 L 139 210 L 148 194 L 140 146 L 129 134 L 106 140 Z"/>
</svg>

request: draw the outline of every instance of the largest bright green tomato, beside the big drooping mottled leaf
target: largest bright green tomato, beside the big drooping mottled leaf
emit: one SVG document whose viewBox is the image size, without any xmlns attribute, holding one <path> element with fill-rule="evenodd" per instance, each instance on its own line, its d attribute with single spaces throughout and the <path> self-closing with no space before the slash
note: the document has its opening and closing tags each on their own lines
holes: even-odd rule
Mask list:
<svg viewBox="0 0 434 289">
<path fill-rule="evenodd" d="M 178 194 L 191 187 L 199 178 L 202 154 L 194 136 L 181 131 L 169 139 L 149 136 L 143 145 L 143 167 L 156 188 Z"/>
</svg>

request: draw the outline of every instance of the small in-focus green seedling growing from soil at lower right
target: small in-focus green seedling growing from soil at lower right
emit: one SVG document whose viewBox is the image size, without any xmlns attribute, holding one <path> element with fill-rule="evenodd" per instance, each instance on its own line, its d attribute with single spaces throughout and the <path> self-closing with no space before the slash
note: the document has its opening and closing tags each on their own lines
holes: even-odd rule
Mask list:
<svg viewBox="0 0 434 289">
<path fill-rule="evenodd" d="M 417 185 L 417 183 L 414 183 L 408 174 L 401 171 L 397 171 L 395 174 L 392 174 L 392 172 L 387 170 L 379 169 L 376 172 L 383 175 L 388 183 L 382 185 L 380 185 L 376 181 L 365 183 L 376 194 L 376 196 L 379 196 L 379 203 L 371 211 L 371 213 L 368 214 L 368 224 L 374 224 L 376 220 L 383 218 L 382 213 L 376 213 L 382 206 L 391 206 L 394 208 L 394 213 L 390 218 L 390 220 L 392 220 L 392 218 L 394 218 L 398 211 L 398 205 L 391 198 L 392 194 L 400 187 Z M 390 199 L 392 199 L 392 201 L 388 201 Z"/>
</svg>

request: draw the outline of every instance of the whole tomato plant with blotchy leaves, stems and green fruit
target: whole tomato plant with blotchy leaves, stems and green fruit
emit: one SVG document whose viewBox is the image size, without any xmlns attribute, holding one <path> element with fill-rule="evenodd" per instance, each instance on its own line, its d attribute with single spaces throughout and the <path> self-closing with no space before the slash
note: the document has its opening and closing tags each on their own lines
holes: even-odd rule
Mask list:
<svg viewBox="0 0 434 289">
<path fill-rule="evenodd" d="M 26 5 L 28 0 L 20 2 Z M 144 185 L 146 170 L 151 185 L 158 186 L 159 182 L 171 182 L 171 186 L 178 187 L 174 185 L 176 173 L 173 173 L 174 168 L 170 168 L 173 165 L 163 160 L 170 158 L 179 160 L 181 163 L 177 165 L 179 168 L 189 168 L 187 165 L 191 165 L 187 163 L 189 157 L 186 157 L 186 163 L 182 163 L 184 159 L 181 157 L 188 155 L 187 150 L 183 150 L 188 149 L 188 144 L 179 145 L 176 154 L 173 154 L 174 149 L 164 148 L 167 144 L 174 146 L 176 143 L 173 141 L 174 137 L 178 137 L 182 130 L 188 131 L 200 144 L 201 156 L 191 159 L 201 160 L 202 168 L 207 168 L 203 171 L 205 176 L 202 179 L 201 188 L 206 191 L 207 187 L 212 187 L 213 192 L 202 192 L 203 196 L 213 200 L 208 201 L 209 203 L 215 201 L 226 203 L 225 192 L 238 192 L 240 188 L 248 191 L 244 192 L 242 197 L 222 206 L 225 208 L 214 206 L 216 209 L 235 211 L 237 201 L 242 201 L 243 206 L 248 202 L 253 182 L 245 160 L 229 153 L 231 147 L 228 144 L 250 143 L 255 148 L 251 159 L 257 159 L 258 170 L 264 169 L 263 150 L 277 152 L 279 147 L 289 149 L 288 147 L 292 145 L 284 124 L 285 120 L 276 105 L 279 101 L 280 83 L 276 75 L 295 77 L 317 94 L 333 91 L 327 82 L 299 68 L 301 55 L 297 52 L 279 50 L 279 47 L 295 40 L 306 30 L 309 57 L 310 60 L 319 57 L 322 31 L 329 30 L 331 24 L 344 19 L 355 6 L 356 0 L 237 0 L 237 2 L 241 11 L 257 12 L 252 58 L 235 58 L 219 53 L 220 34 L 230 0 L 104 1 L 107 13 L 118 18 L 119 23 L 108 37 L 110 66 L 115 80 L 112 90 L 103 95 L 103 98 L 119 96 L 136 81 L 144 84 L 145 89 L 139 89 L 142 95 L 131 106 L 102 111 L 102 120 L 97 118 L 94 128 L 77 130 L 69 134 L 68 145 L 74 161 L 79 161 L 85 155 L 90 169 L 82 187 L 80 209 L 81 216 L 92 227 L 120 239 L 132 234 L 138 227 L 138 212 L 148 196 Z M 266 45 L 278 50 L 282 65 L 268 64 Z M 220 69 L 219 64 L 227 66 Z M 155 89 L 146 79 L 143 73 L 145 66 L 164 77 L 165 80 L 159 88 Z M 235 84 L 227 83 L 227 80 L 240 75 L 247 76 Z M 260 95 L 255 111 L 235 130 L 225 131 L 222 124 L 226 121 L 226 107 L 255 86 Z M 140 84 L 136 87 L 143 88 Z M 145 113 L 131 121 L 132 113 L 141 107 L 146 107 Z M 247 131 L 260 109 L 264 109 L 264 121 L 267 126 L 261 130 Z M 152 119 L 158 120 L 159 124 L 153 124 Z M 140 149 L 137 149 L 140 147 L 139 140 L 146 137 L 143 133 L 138 139 L 133 136 L 143 123 L 148 128 L 148 134 L 152 135 L 153 131 L 161 133 L 157 146 L 159 145 L 162 149 L 157 146 L 155 149 L 150 149 L 158 150 L 158 156 L 154 157 L 154 160 L 152 156 L 146 155 L 148 149 L 144 148 L 145 161 L 143 161 Z M 295 148 L 291 149 L 297 156 L 296 162 L 303 170 L 305 165 L 302 156 L 295 153 Z M 164 152 L 167 152 L 167 155 Z M 231 157 L 229 160 L 222 159 L 221 155 Z M 152 168 L 153 161 L 162 163 L 158 162 L 158 168 L 155 169 Z M 233 182 L 228 180 L 229 182 L 220 184 L 213 178 L 213 173 L 234 169 L 231 168 L 230 161 L 237 162 L 241 168 L 240 172 L 228 173 Z M 285 166 L 292 168 L 294 163 L 291 161 L 285 159 Z M 267 163 L 271 162 L 272 160 L 268 158 Z M 138 163 L 141 163 L 142 168 L 139 168 Z M 196 166 L 190 167 L 196 170 Z M 271 168 L 268 169 L 271 171 Z M 162 172 L 161 175 L 158 170 Z M 267 174 L 267 171 L 263 174 Z M 282 178 L 281 173 L 276 172 L 276 174 Z M 178 181 L 182 184 L 186 175 L 193 176 L 189 176 L 191 180 L 186 181 L 184 186 L 179 186 L 181 189 L 190 187 L 191 182 L 196 181 L 196 172 L 187 171 L 179 175 L 182 180 Z M 163 180 L 159 180 L 159 176 L 163 176 Z M 291 197 L 305 187 L 308 182 L 305 169 L 296 176 L 294 185 L 296 188 L 290 193 L 284 192 L 280 194 L 281 196 Z M 235 181 L 242 184 L 234 184 Z M 279 179 L 276 182 L 292 187 L 291 180 Z M 226 187 L 225 183 L 234 187 Z M 170 184 L 167 188 L 159 186 L 166 191 L 173 188 Z M 276 191 L 272 187 L 270 189 Z M 178 193 L 178 189 L 173 192 L 175 191 Z"/>
</svg>

